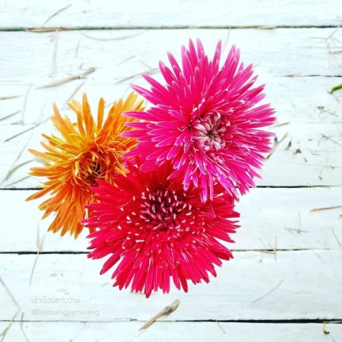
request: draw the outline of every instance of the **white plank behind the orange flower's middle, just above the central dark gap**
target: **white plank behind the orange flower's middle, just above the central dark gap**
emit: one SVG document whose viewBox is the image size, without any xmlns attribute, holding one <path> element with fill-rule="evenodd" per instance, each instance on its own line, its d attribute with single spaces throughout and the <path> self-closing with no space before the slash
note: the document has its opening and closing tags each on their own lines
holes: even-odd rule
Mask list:
<svg viewBox="0 0 342 342">
<path fill-rule="evenodd" d="M 29 128 L 33 126 L 0 125 L 1 187 L 37 187 L 43 181 L 34 177 L 25 178 L 30 167 L 38 166 L 27 148 L 42 150 L 40 133 L 51 134 L 53 127 L 48 122 L 35 131 L 15 137 Z M 290 122 L 272 127 L 272 131 L 280 143 L 265 161 L 261 170 L 262 179 L 256 180 L 257 185 L 342 185 L 342 123 Z"/>
</svg>

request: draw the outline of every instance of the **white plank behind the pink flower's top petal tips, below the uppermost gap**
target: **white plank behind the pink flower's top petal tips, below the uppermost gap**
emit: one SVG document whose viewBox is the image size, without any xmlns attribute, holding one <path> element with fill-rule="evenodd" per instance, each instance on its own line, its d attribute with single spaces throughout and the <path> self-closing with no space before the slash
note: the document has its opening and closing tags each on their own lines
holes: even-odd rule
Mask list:
<svg viewBox="0 0 342 342">
<path fill-rule="evenodd" d="M 219 39 L 228 40 L 224 56 L 237 44 L 242 60 L 253 63 L 261 79 L 342 75 L 342 30 L 332 28 L 0 31 L 0 83 L 37 88 L 90 68 L 96 68 L 88 75 L 90 83 L 131 83 L 127 77 L 157 68 L 159 60 L 166 62 L 167 51 L 178 57 L 189 38 L 200 38 L 210 56 Z"/>
</svg>

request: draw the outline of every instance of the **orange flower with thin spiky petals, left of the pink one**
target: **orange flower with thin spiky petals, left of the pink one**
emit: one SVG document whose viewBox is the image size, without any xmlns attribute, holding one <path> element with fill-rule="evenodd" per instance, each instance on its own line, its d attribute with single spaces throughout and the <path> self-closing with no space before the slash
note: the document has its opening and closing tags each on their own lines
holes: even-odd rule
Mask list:
<svg viewBox="0 0 342 342">
<path fill-rule="evenodd" d="M 137 121 L 122 116 L 123 111 L 141 111 L 142 100 L 131 92 L 125 100 L 120 99 L 109 109 L 104 120 L 105 103 L 103 98 L 98 103 L 97 122 L 94 122 L 86 94 L 83 103 L 71 100 L 68 106 L 77 114 L 77 122 L 68 116 L 62 118 L 56 105 L 53 105 L 54 116 L 51 120 L 62 137 L 55 135 L 42 136 L 47 140 L 41 142 L 46 152 L 29 149 L 29 152 L 44 160 L 44 167 L 31 168 L 33 176 L 43 176 L 44 187 L 27 200 L 34 200 L 46 194 L 50 198 L 40 204 L 39 209 L 45 211 L 42 218 L 55 213 L 49 231 L 61 231 L 74 235 L 81 233 L 86 218 L 85 205 L 92 202 L 91 187 L 96 179 L 115 183 L 116 175 L 123 174 L 122 154 L 131 150 L 136 141 L 133 138 L 121 137 L 120 133 L 128 127 L 124 122 Z M 94 230 L 91 230 L 94 231 Z"/>
</svg>

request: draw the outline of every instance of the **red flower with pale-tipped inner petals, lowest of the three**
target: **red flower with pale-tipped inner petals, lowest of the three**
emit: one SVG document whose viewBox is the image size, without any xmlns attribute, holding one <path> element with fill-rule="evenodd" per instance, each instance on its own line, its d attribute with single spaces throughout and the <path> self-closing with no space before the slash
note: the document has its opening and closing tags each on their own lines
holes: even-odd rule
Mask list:
<svg viewBox="0 0 342 342">
<path fill-rule="evenodd" d="M 131 284 L 132 291 L 170 291 L 170 278 L 177 289 L 187 291 L 187 280 L 209 282 L 216 276 L 214 265 L 233 258 L 218 239 L 233 242 L 229 233 L 238 227 L 233 198 L 214 186 L 211 200 L 200 200 L 200 189 L 180 179 L 169 179 L 172 167 L 118 174 L 116 185 L 98 180 L 97 202 L 88 205 L 86 226 L 96 228 L 88 257 L 109 257 L 101 274 L 115 267 L 112 278 L 119 289 Z"/>
</svg>

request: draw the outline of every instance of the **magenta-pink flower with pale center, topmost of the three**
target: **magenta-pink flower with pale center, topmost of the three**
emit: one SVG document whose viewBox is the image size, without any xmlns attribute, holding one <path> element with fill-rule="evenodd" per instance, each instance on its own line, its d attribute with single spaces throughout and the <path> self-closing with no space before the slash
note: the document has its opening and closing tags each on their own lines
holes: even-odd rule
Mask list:
<svg viewBox="0 0 342 342">
<path fill-rule="evenodd" d="M 181 66 L 171 53 L 171 68 L 159 62 L 166 86 L 148 75 L 150 90 L 132 86 L 152 107 L 125 114 L 144 120 L 128 123 L 135 130 L 124 136 L 139 144 L 125 156 L 139 155 L 142 170 L 171 161 L 171 176 L 181 176 L 185 189 L 191 183 L 201 187 L 202 200 L 213 198 L 216 182 L 235 198 L 237 189 L 244 194 L 254 186 L 272 136 L 261 127 L 275 120 L 268 104 L 257 105 L 265 96 L 263 86 L 253 87 L 257 77 L 252 65 L 239 62 L 239 49 L 233 46 L 221 67 L 220 55 L 221 42 L 209 60 L 200 40 L 197 47 L 189 40 Z"/>
</svg>

